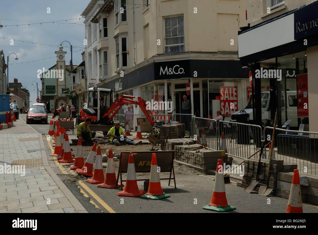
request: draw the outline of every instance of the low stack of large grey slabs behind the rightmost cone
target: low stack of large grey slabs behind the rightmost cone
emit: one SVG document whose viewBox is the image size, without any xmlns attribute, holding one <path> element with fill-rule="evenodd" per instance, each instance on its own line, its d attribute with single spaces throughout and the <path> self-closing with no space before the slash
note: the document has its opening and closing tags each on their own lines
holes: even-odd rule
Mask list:
<svg viewBox="0 0 318 235">
<path fill-rule="evenodd" d="M 289 199 L 292 180 L 293 172 L 279 172 L 277 174 L 276 196 Z M 318 176 L 299 173 L 299 181 L 301 201 L 318 205 Z"/>
</svg>

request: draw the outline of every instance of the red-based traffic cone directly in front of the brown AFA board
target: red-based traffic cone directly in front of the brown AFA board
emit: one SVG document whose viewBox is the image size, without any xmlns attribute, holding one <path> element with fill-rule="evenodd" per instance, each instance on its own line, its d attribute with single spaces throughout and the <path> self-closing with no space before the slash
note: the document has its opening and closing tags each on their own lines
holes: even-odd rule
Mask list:
<svg viewBox="0 0 318 235">
<path fill-rule="evenodd" d="M 136 179 L 135 163 L 133 153 L 129 153 L 128 168 L 127 168 L 127 180 L 125 189 L 118 192 L 117 196 L 124 197 L 139 197 L 145 194 L 144 190 L 139 190 Z"/>
</svg>

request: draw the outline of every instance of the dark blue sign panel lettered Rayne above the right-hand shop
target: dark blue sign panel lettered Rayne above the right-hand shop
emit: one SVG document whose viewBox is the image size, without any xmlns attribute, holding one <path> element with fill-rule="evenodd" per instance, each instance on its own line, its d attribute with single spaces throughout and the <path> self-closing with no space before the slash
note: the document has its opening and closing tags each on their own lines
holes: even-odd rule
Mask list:
<svg viewBox="0 0 318 235">
<path fill-rule="evenodd" d="M 318 2 L 308 4 L 294 13 L 294 39 L 318 33 Z"/>
</svg>

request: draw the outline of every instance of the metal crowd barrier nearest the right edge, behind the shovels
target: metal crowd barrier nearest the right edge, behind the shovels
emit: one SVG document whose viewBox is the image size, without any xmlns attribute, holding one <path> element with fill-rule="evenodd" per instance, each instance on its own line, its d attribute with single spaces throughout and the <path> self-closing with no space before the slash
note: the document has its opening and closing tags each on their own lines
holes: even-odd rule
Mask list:
<svg viewBox="0 0 318 235">
<path fill-rule="evenodd" d="M 264 140 L 272 139 L 273 127 L 264 128 Z M 291 131 L 275 129 L 272 158 L 297 164 L 300 172 L 317 175 L 318 169 L 318 132 Z M 265 150 L 265 156 L 269 153 Z"/>
</svg>

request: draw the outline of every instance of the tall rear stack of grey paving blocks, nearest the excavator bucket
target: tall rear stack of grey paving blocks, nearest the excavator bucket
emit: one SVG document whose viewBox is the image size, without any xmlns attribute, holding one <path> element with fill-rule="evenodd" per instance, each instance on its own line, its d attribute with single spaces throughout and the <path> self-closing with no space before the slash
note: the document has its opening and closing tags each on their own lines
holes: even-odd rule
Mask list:
<svg viewBox="0 0 318 235">
<path fill-rule="evenodd" d="M 168 131 L 169 135 L 168 135 Z M 162 125 L 160 126 L 160 145 L 163 150 L 164 142 L 168 139 L 184 138 L 184 124 Z M 173 148 L 172 148 L 173 150 Z"/>
</svg>

